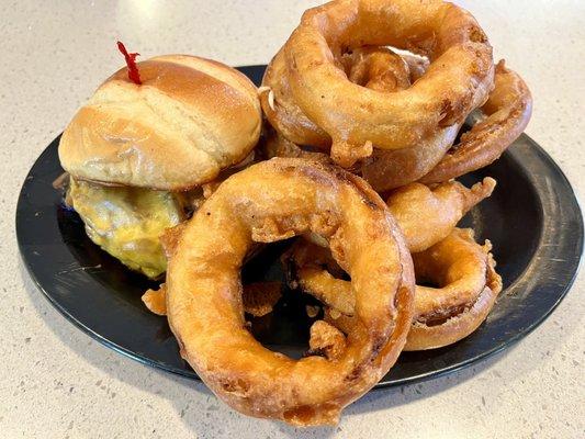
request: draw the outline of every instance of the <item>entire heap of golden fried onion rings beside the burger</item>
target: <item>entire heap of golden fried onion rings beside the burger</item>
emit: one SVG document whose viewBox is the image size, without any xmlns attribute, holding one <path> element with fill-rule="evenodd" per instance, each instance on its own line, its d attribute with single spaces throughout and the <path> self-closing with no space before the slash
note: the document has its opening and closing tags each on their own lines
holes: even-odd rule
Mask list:
<svg viewBox="0 0 585 439">
<path fill-rule="evenodd" d="M 495 181 L 452 179 L 502 155 L 531 95 L 494 66 L 473 16 L 441 0 L 306 11 L 259 95 L 273 159 L 204 188 L 193 218 L 164 237 L 167 283 L 144 301 L 232 407 L 331 424 L 403 349 L 450 345 L 487 317 L 502 291 L 492 246 L 457 224 Z M 461 134 L 472 112 L 483 120 Z M 243 286 L 239 274 L 255 248 L 295 236 L 289 285 L 324 307 L 307 307 L 322 317 L 301 360 L 262 347 L 246 322 L 272 311 L 280 285 Z"/>
</svg>

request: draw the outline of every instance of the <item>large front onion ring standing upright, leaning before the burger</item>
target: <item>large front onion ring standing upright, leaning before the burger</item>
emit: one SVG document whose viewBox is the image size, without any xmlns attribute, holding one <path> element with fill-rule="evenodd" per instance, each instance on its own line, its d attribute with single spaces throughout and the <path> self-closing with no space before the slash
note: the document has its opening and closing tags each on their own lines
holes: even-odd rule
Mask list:
<svg viewBox="0 0 585 439">
<path fill-rule="evenodd" d="M 351 274 L 356 319 L 339 358 L 292 360 L 247 330 L 239 269 L 254 241 L 326 237 Z M 358 177 L 277 158 L 229 177 L 194 214 L 167 272 L 181 354 L 232 407 L 294 425 L 337 421 L 395 362 L 412 322 L 414 272 L 386 205 Z"/>
</svg>

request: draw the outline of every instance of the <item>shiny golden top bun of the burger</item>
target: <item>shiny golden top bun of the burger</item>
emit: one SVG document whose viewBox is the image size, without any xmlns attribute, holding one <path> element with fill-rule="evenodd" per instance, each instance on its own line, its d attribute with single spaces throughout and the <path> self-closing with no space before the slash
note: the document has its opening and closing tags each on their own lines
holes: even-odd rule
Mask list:
<svg viewBox="0 0 585 439">
<path fill-rule="evenodd" d="M 210 59 L 166 55 L 112 75 L 74 116 L 59 144 L 74 177 L 179 191 L 213 180 L 257 144 L 261 109 L 254 83 Z"/>
</svg>

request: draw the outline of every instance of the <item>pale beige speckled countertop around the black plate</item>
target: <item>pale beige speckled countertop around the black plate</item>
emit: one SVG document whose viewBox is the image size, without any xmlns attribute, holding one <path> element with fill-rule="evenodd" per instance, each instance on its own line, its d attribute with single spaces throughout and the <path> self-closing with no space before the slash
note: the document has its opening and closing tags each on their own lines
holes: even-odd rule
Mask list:
<svg viewBox="0 0 585 439">
<path fill-rule="evenodd" d="M 506 352 L 449 376 L 372 392 L 345 412 L 338 427 L 312 430 L 246 418 L 202 384 L 102 347 L 42 297 L 16 248 L 16 196 L 38 154 L 120 67 L 115 40 L 144 57 L 192 53 L 230 65 L 261 64 L 315 4 L 172 3 L 0 0 L 2 437 L 585 437 L 583 271 L 554 314 Z M 461 3 L 490 35 L 496 57 L 529 83 L 536 105 L 528 134 L 584 193 L 585 3 Z"/>
</svg>

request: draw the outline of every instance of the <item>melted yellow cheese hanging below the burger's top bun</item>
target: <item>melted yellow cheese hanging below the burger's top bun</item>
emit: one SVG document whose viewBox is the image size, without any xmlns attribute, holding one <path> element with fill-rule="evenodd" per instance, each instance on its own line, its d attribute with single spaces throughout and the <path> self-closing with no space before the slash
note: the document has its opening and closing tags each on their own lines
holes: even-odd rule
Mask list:
<svg viewBox="0 0 585 439">
<path fill-rule="evenodd" d="M 166 271 L 159 237 L 184 219 L 172 193 L 71 179 L 68 200 L 83 219 L 90 239 L 102 249 L 149 278 Z"/>
</svg>

